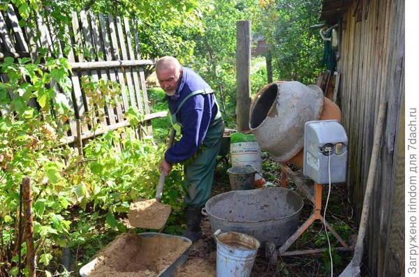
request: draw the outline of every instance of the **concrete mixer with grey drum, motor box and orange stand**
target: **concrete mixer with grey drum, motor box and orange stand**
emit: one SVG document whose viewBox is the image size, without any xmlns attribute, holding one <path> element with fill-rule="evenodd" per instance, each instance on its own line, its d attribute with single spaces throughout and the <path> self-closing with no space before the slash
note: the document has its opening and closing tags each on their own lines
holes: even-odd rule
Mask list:
<svg viewBox="0 0 419 277">
<path fill-rule="evenodd" d="M 344 133 L 344 128 L 339 125 L 338 121 L 341 121 L 339 107 L 335 103 L 332 103 L 330 99 L 325 98 L 323 96 L 323 91 L 316 85 L 306 86 L 300 82 L 273 82 L 260 89 L 256 94 L 256 98 L 251 103 L 249 122 L 251 132 L 255 135 L 260 148 L 269 152 L 270 156 L 277 162 L 288 162 L 297 165 L 297 167 L 303 167 L 304 126 L 307 125 L 311 127 L 312 132 L 309 133 L 309 135 L 306 134 L 306 143 L 310 141 L 313 142 L 312 144 L 308 143 L 307 145 L 318 146 L 320 140 L 316 141 L 316 144 L 314 143 L 314 139 L 316 138 L 316 135 L 319 135 L 318 133 L 320 133 L 320 137 L 326 136 L 328 137 L 328 140 L 330 140 L 330 138 L 338 140 L 339 142 L 336 143 L 336 146 L 341 146 L 340 148 L 337 147 L 333 154 L 330 151 L 332 147 L 330 147 L 328 154 L 326 154 L 328 156 L 325 156 L 328 158 L 320 159 L 323 158 L 323 156 L 321 156 L 316 160 L 317 156 L 314 157 L 315 161 L 319 161 L 319 163 L 312 163 L 313 165 L 318 165 L 318 168 L 316 167 L 315 170 L 309 171 L 309 168 L 306 168 L 306 171 L 304 171 L 305 176 L 310 178 L 316 177 L 313 179 L 314 186 L 307 186 L 307 180 L 305 178 L 303 181 L 303 179 L 297 177 L 297 174 L 287 166 L 281 165 L 281 171 L 284 176 L 292 177 L 295 185 L 300 188 L 307 199 L 314 204 L 314 207 L 311 216 L 300 225 L 280 248 L 277 249 L 273 244 L 267 243 L 265 247 L 265 256 L 270 257 L 270 263 L 272 264 L 276 264 L 278 255 L 302 255 L 314 251 L 313 249 L 294 250 L 286 253 L 286 250 L 291 244 L 293 244 L 315 220 L 321 220 L 325 227 L 327 227 L 335 236 L 342 246 L 339 249 L 351 250 L 351 246 L 348 246 L 345 241 L 341 239 L 339 234 L 337 234 L 333 227 L 329 225 L 321 215 L 323 184 L 330 184 L 332 181 L 344 181 L 346 178 L 347 153 L 345 147 L 347 144 L 347 137 L 346 133 Z M 337 126 L 339 126 L 339 128 L 335 128 Z M 341 137 L 338 136 L 340 134 L 339 131 Z M 323 143 L 323 140 L 321 140 L 321 142 Z M 305 150 L 309 151 L 311 148 L 318 150 L 315 147 L 307 147 Z M 340 153 L 339 149 L 345 149 L 345 152 Z M 321 163 L 320 166 L 320 161 L 328 160 L 328 170 L 330 170 L 331 158 L 334 160 L 336 160 L 336 158 L 341 158 L 342 162 L 339 163 L 340 171 L 333 170 L 333 177 L 337 177 L 335 179 L 331 178 L 330 174 L 328 175 L 328 178 L 323 178 L 326 170 L 323 163 Z M 304 167 L 307 167 L 307 164 L 308 163 L 306 163 Z M 308 174 L 306 174 L 307 172 Z M 335 176 L 337 172 L 340 173 L 339 176 Z M 286 179 L 287 178 L 282 179 L 283 186 L 286 186 Z M 315 181 L 317 179 L 321 181 Z M 327 180 L 328 182 L 324 180 Z M 316 253 L 321 253 L 324 249 L 316 249 L 315 251 L 317 251 Z"/>
</svg>

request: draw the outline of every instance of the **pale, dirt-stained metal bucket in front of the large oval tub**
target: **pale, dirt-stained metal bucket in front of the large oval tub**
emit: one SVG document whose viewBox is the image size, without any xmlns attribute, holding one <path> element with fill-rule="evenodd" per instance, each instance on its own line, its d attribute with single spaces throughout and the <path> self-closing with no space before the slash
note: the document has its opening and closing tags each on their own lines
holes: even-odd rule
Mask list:
<svg viewBox="0 0 419 277">
<path fill-rule="evenodd" d="M 225 232 L 216 239 L 216 276 L 248 277 L 260 242 L 248 234 Z"/>
</svg>

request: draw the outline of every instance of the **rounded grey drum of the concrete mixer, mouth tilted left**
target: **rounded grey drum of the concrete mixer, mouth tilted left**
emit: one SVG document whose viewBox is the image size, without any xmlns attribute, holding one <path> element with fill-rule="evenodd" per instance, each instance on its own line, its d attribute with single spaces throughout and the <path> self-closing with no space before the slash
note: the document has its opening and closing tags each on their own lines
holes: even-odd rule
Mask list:
<svg viewBox="0 0 419 277">
<path fill-rule="evenodd" d="M 304 144 L 304 123 L 321 119 L 325 99 L 314 84 L 279 81 L 260 89 L 251 103 L 249 122 L 260 148 L 277 162 L 295 157 Z"/>
</svg>

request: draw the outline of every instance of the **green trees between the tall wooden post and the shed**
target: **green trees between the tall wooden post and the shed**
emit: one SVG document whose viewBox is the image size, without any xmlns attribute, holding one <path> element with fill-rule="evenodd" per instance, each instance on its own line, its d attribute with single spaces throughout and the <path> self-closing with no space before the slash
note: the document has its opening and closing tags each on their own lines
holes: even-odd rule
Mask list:
<svg viewBox="0 0 419 277">
<path fill-rule="evenodd" d="M 270 44 L 274 80 L 313 84 L 323 69 L 323 40 L 309 27 L 318 24 L 320 1 L 264 0 L 260 6 L 256 32 Z"/>
</svg>

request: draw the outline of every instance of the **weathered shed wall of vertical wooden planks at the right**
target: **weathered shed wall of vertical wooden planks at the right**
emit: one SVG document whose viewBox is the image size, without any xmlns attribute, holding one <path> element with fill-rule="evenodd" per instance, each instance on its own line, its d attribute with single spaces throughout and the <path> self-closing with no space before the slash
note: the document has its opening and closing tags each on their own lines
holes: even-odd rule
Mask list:
<svg viewBox="0 0 419 277">
<path fill-rule="evenodd" d="M 395 9 L 402 10 L 402 7 L 398 1 L 372 0 L 368 2 L 369 5 L 364 5 L 363 10 L 364 15 L 368 13 L 366 20 L 354 24 L 354 17 L 347 18 L 348 13 L 351 14 L 350 11 L 344 15 L 346 30 L 341 32 L 341 59 L 337 67 L 341 73 L 339 91 L 342 118 L 352 144 L 349 150 L 348 183 L 353 184 L 354 187 L 355 205 L 359 202 L 357 192 L 359 194 L 362 192 L 362 184 L 365 183 L 366 164 L 372 147 L 371 130 L 374 129 L 376 121 L 376 107 L 381 100 L 394 98 L 395 102 L 389 108 L 394 107 L 393 110 L 397 111 L 397 103 L 399 103 L 397 99 L 400 93 L 397 89 L 392 89 L 394 88 L 392 82 L 397 79 L 395 76 L 399 76 L 392 71 L 396 64 L 392 59 L 397 53 L 395 44 L 400 39 L 399 36 L 403 37 L 403 32 L 401 27 L 393 31 L 392 29 L 396 25 L 401 26 L 402 13 L 395 13 Z M 354 10 L 353 5 L 351 9 L 351 11 Z M 402 67 L 399 66 L 399 68 Z M 397 117 L 394 112 L 389 112 L 389 114 L 389 121 Z M 388 126 L 397 126 L 397 123 L 388 122 Z M 387 130 L 385 142 L 383 142 L 381 165 L 378 168 L 379 178 L 376 180 L 380 188 L 374 191 L 376 201 L 372 207 L 370 221 L 370 225 L 374 228 L 370 228 L 368 234 L 370 239 L 368 240 L 369 264 L 367 266 L 372 276 L 395 276 L 402 272 L 400 266 L 397 266 L 403 262 L 397 260 L 397 257 L 402 258 L 402 251 L 397 255 L 390 253 L 390 251 L 394 253 L 399 244 L 389 242 L 390 232 L 394 234 L 390 230 L 397 229 L 397 227 L 390 229 L 388 225 L 390 222 L 395 222 L 391 217 L 394 201 L 390 200 L 395 190 L 391 180 L 392 166 L 394 166 L 391 154 L 393 141 L 392 130 Z M 374 237 L 378 239 L 371 239 Z M 396 236 L 395 239 L 399 237 Z M 386 259 L 391 261 L 392 257 L 395 258 L 393 259 L 395 262 L 386 262 Z M 393 265 L 397 268 L 393 268 Z M 385 267 L 391 267 L 392 271 L 388 271 Z M 389 272 L 394 272 L 394 274 L 388 275 Z"/>
</svg>

